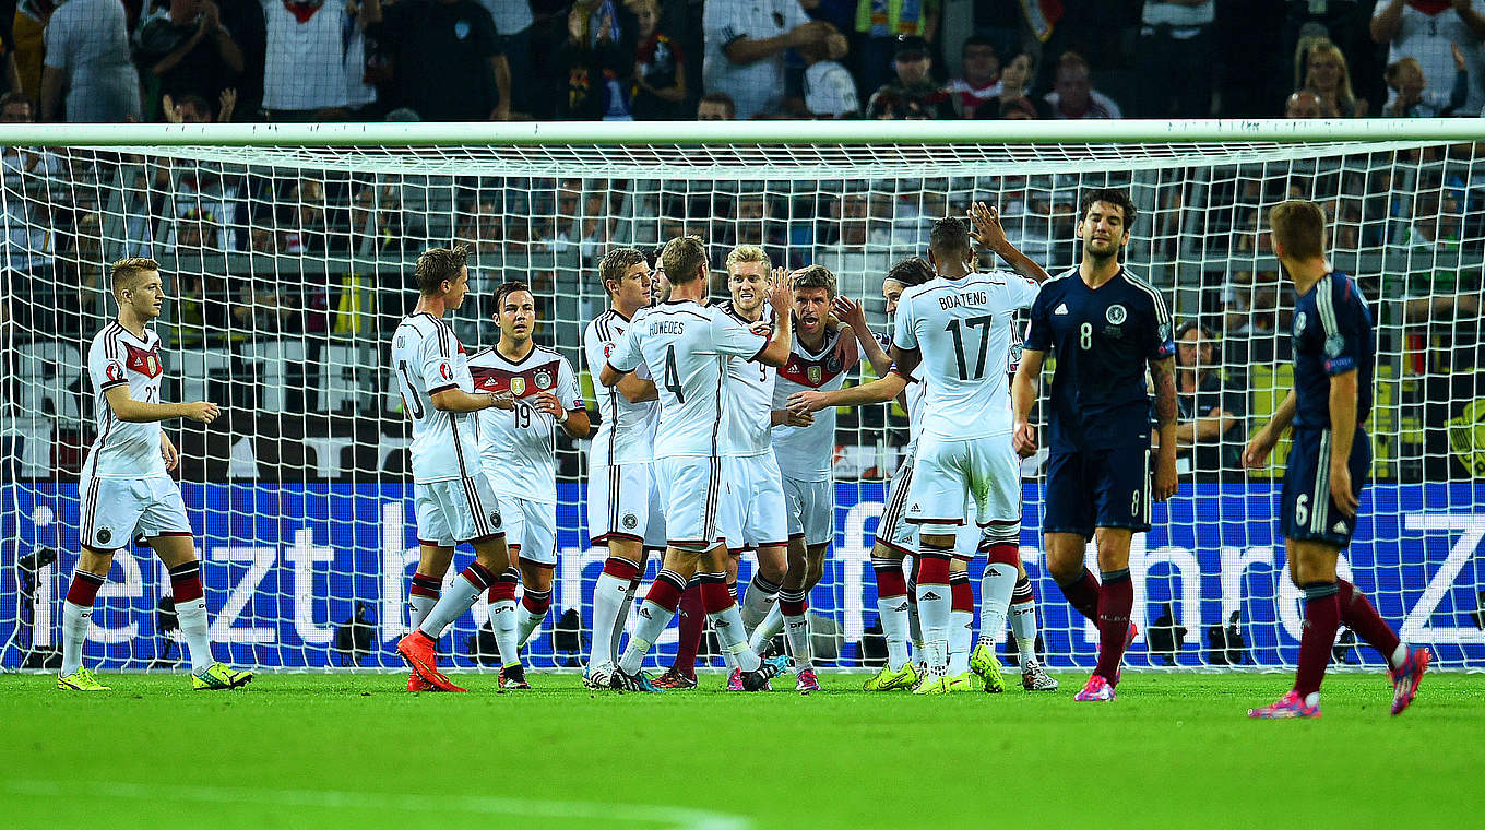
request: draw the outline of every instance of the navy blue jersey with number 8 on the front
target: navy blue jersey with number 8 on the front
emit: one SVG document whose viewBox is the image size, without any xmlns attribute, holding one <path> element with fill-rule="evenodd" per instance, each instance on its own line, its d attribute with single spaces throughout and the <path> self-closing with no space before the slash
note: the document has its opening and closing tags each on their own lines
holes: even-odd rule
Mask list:
<svg viewBox="0 0 1485 830">
<path fill-rule="evenodd" d="M 1146 362 L 1176 352 L 1160 291 L 1129 269 L 1093 290 L 1074 267 L 1042 285 L 1025 347 L 1057 361 L 1053 453 L 1149 445 Z"/>
</svg>

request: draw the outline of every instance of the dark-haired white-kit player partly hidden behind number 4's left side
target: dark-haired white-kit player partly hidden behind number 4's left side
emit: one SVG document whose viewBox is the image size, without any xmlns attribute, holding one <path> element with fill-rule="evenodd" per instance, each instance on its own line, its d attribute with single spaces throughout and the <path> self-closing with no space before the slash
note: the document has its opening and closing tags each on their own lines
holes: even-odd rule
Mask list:
<svg viewBox="0 0 1485 830">
<path fill-rule="evenodd" d="M 603 373 L 604 361 L 656 290 L 644 254 L 634 248 L 604 254 L 598 279 L 609 294 L 609 310 L 582 334 L 593 377 Z M 625 618 L 644 573 L 644 551 L 665 546 L 665 517 L 652 469 L 659 396 L 649 368 L 640 364 L 618 385 L 595 392 L 598 431 L 588 445 L 588 535 L 593 546 L 609 548 L 609 558 L 593 589 L 593 652 L 584 683 L 607 689 Z"/>
</svg>

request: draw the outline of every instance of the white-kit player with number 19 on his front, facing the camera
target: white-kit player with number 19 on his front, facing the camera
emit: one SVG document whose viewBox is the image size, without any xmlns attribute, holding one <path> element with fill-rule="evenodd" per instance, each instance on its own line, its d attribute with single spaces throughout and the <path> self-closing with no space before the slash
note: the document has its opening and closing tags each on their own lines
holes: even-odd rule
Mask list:
<svg viewBox="0 0 1485 830">
<path fill-rule="evenodd" d="M 524 282 L 495 290 L 500 339 L 469 358 L 477 392 L 509 393 L 508 411 L 481 410 L 475 420 L 480 460 L 505 521 L 505 546 L 520 569 L 490 586 L 490 627 L 500 644 L 502 689 L 529 689 L 520 649 L 546 619 L 557 567 L 557 426 L 572 438 L 588 437 L 588 408 L 572 364 L 532 342 L 536 297 Z M 505 650 L 511 646 L 509 650 Z"/>
</svg>

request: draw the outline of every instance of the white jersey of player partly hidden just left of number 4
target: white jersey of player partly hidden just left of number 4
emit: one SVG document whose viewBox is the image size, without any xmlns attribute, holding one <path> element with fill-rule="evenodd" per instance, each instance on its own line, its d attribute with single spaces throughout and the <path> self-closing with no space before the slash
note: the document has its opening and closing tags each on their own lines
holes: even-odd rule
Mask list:
<svg viewBox="0 0 1485 830">
<path fill-rule="evenodd" d="M 630 321 L 609 309 L 593 318 L 582 333 L 584 358 L 588 373 L 597 379 L 603 362 L 613 353 L 613 346 L 630 328 Z M 649 380 L 649 367 L 640 364 L 634 374 Z M 588 463 L 609 466 L 625 463 L 647 463 L 653 459 L 655 426 L 659 423 L 659 401 L 631 404 L 616 386 L 595 388 L 598 398 L 598 431 L 588 445 Z"/>
</svg>

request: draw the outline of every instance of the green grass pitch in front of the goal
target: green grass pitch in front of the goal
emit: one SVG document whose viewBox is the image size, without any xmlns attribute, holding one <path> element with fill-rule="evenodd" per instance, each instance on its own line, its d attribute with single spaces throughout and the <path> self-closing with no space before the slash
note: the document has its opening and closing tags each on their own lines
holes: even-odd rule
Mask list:
<svg viewBox="0 0 1485 830">
<path fill-rule="evenodd" d="M 0 826 L 192 827 L 1479 827 L 1485 677 L 1430 674 L 1387 713 L 1326 680 L 1319 722 L 1250 722 L 1277 674 L 1083 676 L 1032 695 L 824 690 L 411 695 L 402 676 L 267 674 L 238 692 L 104 674 L 113 692 L 0 680 Z M 716 687 L 720 676 L 702 677 Z M 792 677 L 777 683 L 793 687 Z"/>
</svg>

